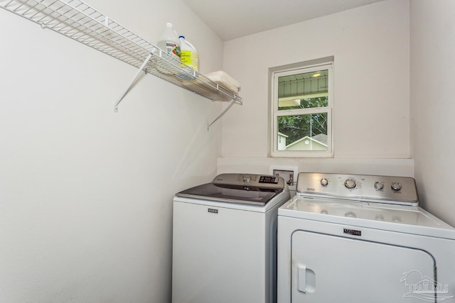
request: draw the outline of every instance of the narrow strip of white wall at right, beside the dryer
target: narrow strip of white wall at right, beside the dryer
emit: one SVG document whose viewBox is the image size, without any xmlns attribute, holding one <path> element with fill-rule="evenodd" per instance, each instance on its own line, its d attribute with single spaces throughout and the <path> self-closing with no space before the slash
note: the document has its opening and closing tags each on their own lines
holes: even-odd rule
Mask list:
<svg viewBox="0 0 455 303">
<path fill-rule="evenodd" d="M 455 2 L 411 0 L 411 116 L 422 205 L 455 226 Z"/>
</svg>

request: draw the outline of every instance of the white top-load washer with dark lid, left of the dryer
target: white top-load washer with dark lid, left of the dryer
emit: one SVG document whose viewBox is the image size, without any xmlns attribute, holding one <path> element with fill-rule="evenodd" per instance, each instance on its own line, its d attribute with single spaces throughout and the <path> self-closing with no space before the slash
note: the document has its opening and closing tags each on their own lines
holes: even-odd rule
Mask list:
<svg viewBox="0 0 455 303">
<path fill-rule="evenodd" d="M 173 199 L 173 303 L 272 303 L 282 177 L 223 174 Z"/>
</svg>

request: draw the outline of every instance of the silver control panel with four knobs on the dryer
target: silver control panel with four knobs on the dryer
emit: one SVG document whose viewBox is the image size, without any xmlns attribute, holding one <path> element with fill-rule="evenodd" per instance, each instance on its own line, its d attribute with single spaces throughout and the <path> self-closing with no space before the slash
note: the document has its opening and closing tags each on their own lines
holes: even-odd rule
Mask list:
<svg viewBox="0 0 455 303">
<path fill-rule="evenodd" d="M 419 205 L 417 187 L 412 177 L 301 172 L 297 179 L 297 194 L 360 202 Z"/>
</svg>

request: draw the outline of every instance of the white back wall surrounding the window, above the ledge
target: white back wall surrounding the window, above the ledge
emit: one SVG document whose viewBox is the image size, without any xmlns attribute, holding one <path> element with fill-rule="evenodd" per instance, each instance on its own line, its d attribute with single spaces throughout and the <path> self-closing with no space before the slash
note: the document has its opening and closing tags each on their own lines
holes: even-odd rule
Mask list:
<svg viewBox="0 0 455 303">
<path fill-rule="evenodd" d="M 310 163 L 350 158 L 339 168 L 364 163 L 370 173 L 375 173 L 374 159 L 407 163 L 409 32 L 409 1 L 387 0 L 225 43 L 224 67 L 242 84 L 244 105 L 223 119 L 223 163 L 230 159 L 236 165 L 239 157 L 262 159 L 264 167 L 276 162 L 267 159 L 269 68 L 332 55 L 334 158 Z"/>
</svg>

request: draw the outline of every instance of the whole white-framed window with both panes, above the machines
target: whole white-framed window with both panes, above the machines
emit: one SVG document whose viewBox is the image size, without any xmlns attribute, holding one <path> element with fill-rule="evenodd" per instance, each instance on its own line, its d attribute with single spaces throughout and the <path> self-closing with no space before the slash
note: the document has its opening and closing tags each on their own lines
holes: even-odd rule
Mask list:
<svg viewBox="0 0 455 303">
<path fill-rule="evenodd" d="M 333 62 L 270 75 L 272 157 L 332 157 Z"/>
</svg>

